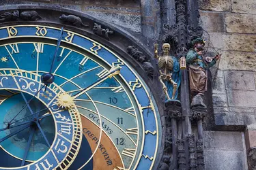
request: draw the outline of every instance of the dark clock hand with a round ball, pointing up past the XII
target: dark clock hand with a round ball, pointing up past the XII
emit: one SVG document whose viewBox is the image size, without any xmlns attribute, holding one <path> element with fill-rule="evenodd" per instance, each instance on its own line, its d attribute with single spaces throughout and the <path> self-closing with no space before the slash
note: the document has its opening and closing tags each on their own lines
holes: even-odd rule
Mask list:
<svg viewBox="0 0 256 170">
<path fill-rule="evenodd" d="M 53 71 L 53 65 L 55 63 L 55 58 L 57 56 L 57 52 L 59 50 L 59 45 L 61 44 L 62 34 L 63 34 L 63 27 L 61 28 L 61 33 L 60 33 L 59 39 L 57 41 L 57 46 L 56 46 L 56 49 L 55 49 L 55 53 L 53 55 L 53 61 L 52 61 L 52 64 L 51 64 L 51 69 L 50 69 L 49 73 L 44 73 L 41 76 L 41 82 L 43 82 L 44 85 L 45 85 L 44 91 L 46 91 L 47 86 L 52 84 L 55 80 L 54 75 L 52 74 L 52 71 Z"/>
</svg>

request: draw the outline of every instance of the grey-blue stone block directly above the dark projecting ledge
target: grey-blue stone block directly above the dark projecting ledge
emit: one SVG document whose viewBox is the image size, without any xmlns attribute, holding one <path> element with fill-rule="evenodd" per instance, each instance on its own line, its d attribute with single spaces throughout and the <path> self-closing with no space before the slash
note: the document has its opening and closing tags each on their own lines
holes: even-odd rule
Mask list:
<svg viewBox="0 0 256 170">
<path fill-rule="evenodd" d="M 244 114 L 244 112 L 215 112 L 214 117 L 216 125 L 244 125 L 256 123 L 255 114 Z"/>
</svg>

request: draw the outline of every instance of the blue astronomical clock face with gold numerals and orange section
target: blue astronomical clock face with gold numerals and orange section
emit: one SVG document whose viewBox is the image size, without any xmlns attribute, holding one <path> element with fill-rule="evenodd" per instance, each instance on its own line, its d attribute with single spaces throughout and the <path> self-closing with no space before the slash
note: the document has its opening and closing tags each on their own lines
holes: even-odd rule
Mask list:
<svg viewBox="0 0 256 170">
<path fill-rule="evenodd" d="M 0 169 L 152 169 L 160 120 L 143 80 L 100 42 L 67 30 L 53 62 L 60 32 L 0 28 Z"/>
</svg>

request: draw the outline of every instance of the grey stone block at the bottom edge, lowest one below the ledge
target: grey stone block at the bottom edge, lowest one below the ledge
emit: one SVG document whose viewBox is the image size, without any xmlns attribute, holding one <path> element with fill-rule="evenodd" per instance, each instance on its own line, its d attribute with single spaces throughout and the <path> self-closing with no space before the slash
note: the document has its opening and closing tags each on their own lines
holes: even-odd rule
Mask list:
<svg viewBox="0 0 256 170">
<path fill-rule="evenodd" d="M 227 141 L 222 141 L 226 143 Z M 244 152 L 229 150 L 204 150 L 205 169 L 242 170 L 246 169 Z"/>
</svg>

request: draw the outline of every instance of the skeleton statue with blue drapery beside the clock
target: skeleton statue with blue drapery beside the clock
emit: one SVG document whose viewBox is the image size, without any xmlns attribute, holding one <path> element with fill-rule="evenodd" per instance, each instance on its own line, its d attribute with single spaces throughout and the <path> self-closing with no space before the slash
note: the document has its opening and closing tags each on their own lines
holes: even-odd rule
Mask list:
<svg viewBox="0 0 256 170">
<path fill-rule="evenodd" d="M 180 67 L 175 56 L 169 55 L 171 48 L 170 44 L 162 45 L 163 54 L 158 56 L 158 44 L 154 45 L 154 57 L 158 59 L 158 67 L 160 69 L 159 80 L 162 84 L 162 89 L 165 92 L 167 101 L 177 99 L 177 88 L 180 86 Z"/>
</svg>

